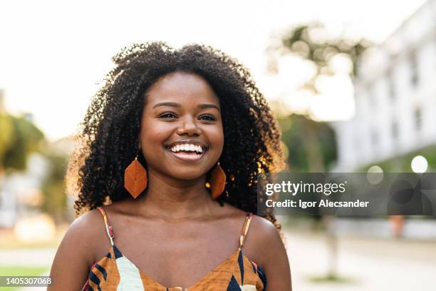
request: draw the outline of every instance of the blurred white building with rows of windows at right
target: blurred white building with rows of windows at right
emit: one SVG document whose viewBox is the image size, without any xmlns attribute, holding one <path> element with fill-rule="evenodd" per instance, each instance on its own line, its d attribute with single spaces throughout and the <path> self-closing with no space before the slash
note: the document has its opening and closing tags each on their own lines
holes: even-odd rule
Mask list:
<svg viewBox="0 0 436 291">
<path fill-rule="evenodd" d="M 333 123 L 336 171 L 436 144 L 436 0 L 365 52 L 354 85 L 355 117 Z"/>
</svg>

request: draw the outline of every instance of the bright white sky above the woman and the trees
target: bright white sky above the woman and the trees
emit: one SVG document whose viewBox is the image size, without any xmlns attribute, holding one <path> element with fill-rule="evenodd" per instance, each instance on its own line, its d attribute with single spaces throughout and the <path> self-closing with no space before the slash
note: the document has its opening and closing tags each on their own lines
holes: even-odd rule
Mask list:
<svg viewBox="0 0 436 291">
<path fill-rule="evenodd" d="M 291 80 L 301 74 L 292 66 L 279 77 L 266 72 L 266 47 L 281 31 L 321 21 L 332 32 L 380 43 L 424 3 L 1 1 L 0 88 L 7 111 L 33 113 L 36 126 L 56 141 L 76 133 L 98 81 L 113 67 L 110 58 L 120 48 L 167 41 L 175 47 L 202 43 L 222 49 L 244 63 L 266 98 L 274 99 L 292 92 L 286 87 L 294 86 Z M 325 106 L 320 102 L 314 110 L 322 115 Z"/>
</svg>

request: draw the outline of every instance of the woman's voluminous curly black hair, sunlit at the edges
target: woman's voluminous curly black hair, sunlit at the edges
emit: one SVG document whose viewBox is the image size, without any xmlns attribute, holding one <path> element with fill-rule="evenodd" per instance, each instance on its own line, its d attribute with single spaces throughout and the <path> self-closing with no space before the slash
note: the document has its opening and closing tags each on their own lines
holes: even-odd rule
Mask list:
<svg viewBox="0 0 436 291">
<path fill-rule="evenodd" d="M 257 173 L 279 171 L 285 164 L 278 123 L 249 71 L 222 51 L 198 44 L 180 49 L 162 42 L 133 44 L 113 61 L 115 68 L 81 123 L 81 146 L 70 160 L 68 172 L 76 177 L 79 193 L 76 215 L 130 195 L 124 170 L 137 153 L 145 92 L 158 78 L 176 71 L 202 76 L 219 98 L 225 137 L 219 161 L 227 175 L 219 203 L 257 213 Z M 142 155 L 138 159 L 146 165 Z M 264 217 L 280 229 L 272 213 Z"/>
</svg>

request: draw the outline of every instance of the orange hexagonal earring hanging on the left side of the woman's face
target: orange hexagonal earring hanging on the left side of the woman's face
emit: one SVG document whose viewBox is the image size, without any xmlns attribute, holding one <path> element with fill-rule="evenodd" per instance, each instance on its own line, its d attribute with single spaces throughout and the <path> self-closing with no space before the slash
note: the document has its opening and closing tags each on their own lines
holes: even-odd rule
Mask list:
<svg viewBox="0 0 436 291">
<path fill-rule="evenodd" d="M 147 170 L 137 160 L 137 155 L 135 160 L 125 168 L 124 188 L 133 196 L 133 199 L 136 199 L 147 188 Z"/>
</svg>

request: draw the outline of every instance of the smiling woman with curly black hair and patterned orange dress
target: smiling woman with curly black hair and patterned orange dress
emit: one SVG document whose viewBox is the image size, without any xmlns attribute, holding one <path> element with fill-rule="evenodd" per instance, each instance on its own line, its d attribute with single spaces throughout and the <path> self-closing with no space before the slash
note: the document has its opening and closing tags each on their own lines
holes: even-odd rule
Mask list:
<svg viewBox="0 0 436 291">
<path fill-rule="evenodd" d="M 48 290 L 291 290 L 281 226 L 256 215 L 280 132 L 246 68 L 199 45 L 113 60 L 71 158 L 84 214 Z"/>
</svg>

